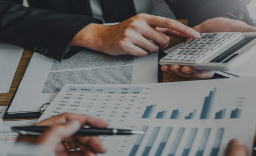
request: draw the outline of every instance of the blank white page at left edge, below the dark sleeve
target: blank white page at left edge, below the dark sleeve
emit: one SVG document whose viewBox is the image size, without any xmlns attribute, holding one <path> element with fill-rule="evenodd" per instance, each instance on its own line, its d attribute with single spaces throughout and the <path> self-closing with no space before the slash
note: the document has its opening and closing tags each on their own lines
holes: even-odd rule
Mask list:
<svg viewBox="0 0 256 156">
<path fill-rule="evenodd" d="M 23 48 L 0 43 L 0 93 L 9 92 Z"/>
</svg>

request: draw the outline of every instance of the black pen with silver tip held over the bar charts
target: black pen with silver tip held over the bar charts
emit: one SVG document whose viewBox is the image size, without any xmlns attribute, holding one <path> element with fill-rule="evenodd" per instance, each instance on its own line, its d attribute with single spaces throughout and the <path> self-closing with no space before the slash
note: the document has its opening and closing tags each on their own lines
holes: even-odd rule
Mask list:
<svg viewBox="0 0 256 156">
<path fill-rule="evenodd" d="M 12 127 L 12 130 L 20 134 L 26 135 L 41 135 L 47 126 L 23 126 Z M 82 127 L 75 135 L 92 136 L 92 135 L 132 135 L 132 134 L 144 134 L 143 131 L 134 131 L 127 129 L 115 129 L 115 128 L 84 128 Z"/>
</svg>

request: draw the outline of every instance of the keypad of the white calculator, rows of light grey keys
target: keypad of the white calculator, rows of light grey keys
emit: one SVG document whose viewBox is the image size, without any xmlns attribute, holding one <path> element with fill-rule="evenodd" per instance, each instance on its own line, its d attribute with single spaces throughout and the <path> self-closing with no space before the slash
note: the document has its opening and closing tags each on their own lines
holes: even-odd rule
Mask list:
<svg viewBox="0 0 256 156">
<path fill-rule="evenodd" d="M 191 39 L 186 44 L 174 50 L 164 60 L 172 60 L 173 62 L 195 62 L 200 61 L 209 54 L 214 54 L 217 48 L 224 46 L 223 44 L 230 39 L 238 38 L 241 33 L 204 33 L 198 39 Z"/>
</svg>

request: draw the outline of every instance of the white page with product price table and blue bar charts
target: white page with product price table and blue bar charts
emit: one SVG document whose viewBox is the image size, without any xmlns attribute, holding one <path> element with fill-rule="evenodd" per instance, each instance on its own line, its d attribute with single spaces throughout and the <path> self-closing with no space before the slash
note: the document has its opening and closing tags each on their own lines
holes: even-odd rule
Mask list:
<svg viewBox="0 0 256 156">
<path fill-rule="evenodd" d="M 71 112 L 108 120 L 109 127 L 146 132 L 101 136 L 106 156 L 223 156 L 233 138 L 244 141 L 251 152 L 255 80 L 66 84 L 38 121 Z"/>
</svg>

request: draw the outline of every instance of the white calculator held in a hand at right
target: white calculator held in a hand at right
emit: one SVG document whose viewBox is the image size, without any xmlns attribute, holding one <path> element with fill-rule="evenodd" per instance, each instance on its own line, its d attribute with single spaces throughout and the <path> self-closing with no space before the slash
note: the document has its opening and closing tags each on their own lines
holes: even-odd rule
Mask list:
<svg viewBox="0 0 256 156">
<path fill-rule="evenodd" d="M 160 65 L 190 66 L 197 70 L 228 71 L 256 54 L 256 33 L 203 33 L 172 51 Z M 255 60 L 256 62 L 256 60 Z"/>
</svg>

